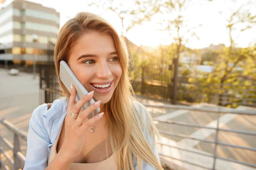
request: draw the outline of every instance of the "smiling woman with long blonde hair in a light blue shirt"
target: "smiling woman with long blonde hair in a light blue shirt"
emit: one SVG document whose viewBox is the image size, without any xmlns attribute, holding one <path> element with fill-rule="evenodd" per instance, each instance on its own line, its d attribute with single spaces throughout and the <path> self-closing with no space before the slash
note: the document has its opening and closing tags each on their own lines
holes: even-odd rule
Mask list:
<svg viewBox="0 0 256 170">
<path fill-rule="evenodd" d="M 79 13 L 60 30 L 55 68 L 65 98 L 35 109 L 29 122 L 24 170 L 163 170 L 157 129 L 150 113 L 134 99 L 128 52 L 115 29 L 101 17 Z M 68 63 L 88 93 L 75 102 L 59 77 Z M 91 98 L 86 110 L 81 107 Z M 87 119 L 100 107 L 102 113 Z"/>
</svg>

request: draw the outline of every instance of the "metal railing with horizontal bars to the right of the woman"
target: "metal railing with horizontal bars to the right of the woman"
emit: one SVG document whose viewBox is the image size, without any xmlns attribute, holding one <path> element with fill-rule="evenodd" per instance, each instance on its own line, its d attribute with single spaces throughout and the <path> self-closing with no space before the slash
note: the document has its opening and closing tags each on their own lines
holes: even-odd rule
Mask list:
<svg viewBox="0 0 256 170">
<path fill-rule="evenodd" d="M 239 115 L 247 115 L 247 116 L 256 116 L 256 111 L 239 111 L 239 110 L 222 109 L 222 108 L 194 108 L 194 107 L 182 106 L 182 105 L 149 105 L 149 104 L 143 104 L 143 105 L 145 107 L 150 107 L 150 108 L 165 108 L 165 109 L 175 109 L 175 110 L 181 110 L 182 109 L 182 110 L 188 110 L 188 111 L 200 111 L 200 112 L 205 112 L 205 113 L 216 113 L 216 114 L 231 113 L 231 114 L 239 114 Z M 195 125 L 195 124 L 172 121 L 172 120 L 163 120 L 163 119 L 157 119 L 157 118 L 155 118 L 154 121 L 163 122 L 163 123 L 167 123 L 167 124 L 175 124 L 175 125 L 180 125 L 180 126 L 186 126 L 186 127 L 205 128 L 205 129 L 211 129 L 211 130 L 216 131 L 215 140 L 213 141 L 213 140 L 207 140 L 207 139 L 199 139 L 199 138 L 191 137 L 191 136 L 180 134 L 180 133 L 171 133 L 171 132 L 168 132 L 168 131 L 159 130 L 159 133 L 162 133 L 162 134 L 175 136 L 175 137 L 181 137 L 181 138 L 184 138 L 184 139 L 193 139 L 193 140 L 197 140 L 197 141 L 200 141 L 200 142 L 207 142 L 207 143 L 215 144 L 213 154 L 205 154 L 205 153 L 201 153 L 201 152 L 197 152 L 197 151 L 193 151 L 193 150 L 188 150 L 188 149 L 185 149 L 185 148 L 182 148 L 182 147 L 177 147 L 177 146 L 172 146 L 172 145 L 169 145 L 169 144 L 163 144 L 161 142 L 157 142 L 158 144 L 160 144 L 162 146 L 172 147 L 172 148 L 176 148 L 178 150 L 184 150 L 184 151 L 187 151 L 187 152 L 196 153 L 196 154 L 199 154 L 199 155 L 211 157 L 211 158 L 213 158 L 212 168 L 205 167 L 205 166 L 202 166 L 200 164 L 196 164 L 196 162 L 189 162 L 187 160 L 177 159 L 175 157 L 168 156 L 168 155 L 159 154 L 160 156 L 166 156 L 166 157 L 169 157 L 171 159 L 182 161 L 182 162 L 192 164 L 192 165 L 195 165 L 195 166 L 198 166 L 198 167 L 202 167 L 202 168 L 208 169 L 208 170 L 215 170 L 216 159 L 235 162 L 235 163 L 238 163 L 238 164 L 242 164 L 242 165 L 246 165 L 246 166 L 249 166 L 249 167 L 256 168 L 256 164 L 251 164 L 251 163 L 247 163 L 247 162 L 243 162 L 243 161 L 237 161 L 237 160 L 234 160 L 234 159 L 227 159 L 227 158 L 223 158 L 223 157 L 220 157 L 220 156 L 217 155 L 218 145 L 226 146 L 226 147 L 233 147 L 233 148 L 240 148 L 240 149 L 243 149 L 243 150 L 250 150 L 250 151 L 256 152 L 256 147 L 244 147 L 244 146 L 239 146 L 239 145 L 236 145 L 236 144 L 228 144 L 228 143 L 224 143 L 224 142 L 219 142 L 218 141 L 218 133 L 220 131 L 256 136 L 255 132 L 248 132 L 248 131 L 241 131 L 241 130 L 229 130 L 229 129 L 220 128 L 219 127 L 219 116 L 218 116 L 218 119 L 217 119 L 217 127 L 208 127 L 208 126 Z"/>
</svg>

